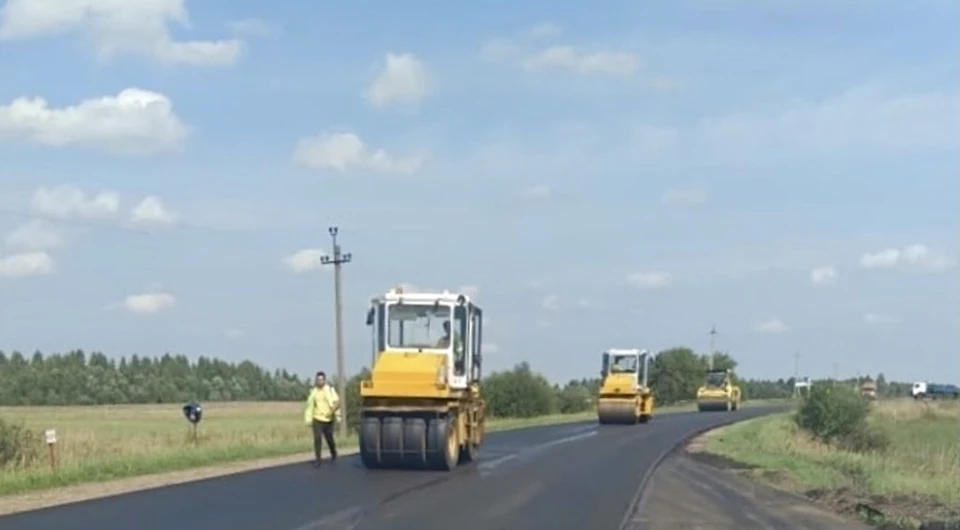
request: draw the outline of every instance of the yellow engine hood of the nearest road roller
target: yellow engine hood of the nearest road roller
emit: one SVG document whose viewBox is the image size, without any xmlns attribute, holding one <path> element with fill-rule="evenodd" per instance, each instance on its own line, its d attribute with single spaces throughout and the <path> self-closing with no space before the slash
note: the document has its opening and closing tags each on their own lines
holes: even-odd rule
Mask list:
<svg viewBox="0 0 960 530">
<path fill-rule="evenodd" d="M 370 381 L 361 385 L 360 394 L 434 397 L 438 392 L 446 391 L 447 376 L 447 356 L 444 354 L 392 350 L 378 356 Z"/>
</svg>

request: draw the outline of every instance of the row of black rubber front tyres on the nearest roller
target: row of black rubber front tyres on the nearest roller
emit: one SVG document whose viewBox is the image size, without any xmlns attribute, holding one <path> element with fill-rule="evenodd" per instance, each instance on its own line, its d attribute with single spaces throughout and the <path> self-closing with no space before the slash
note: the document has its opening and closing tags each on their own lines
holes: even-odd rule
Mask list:
<svg viewBox="0 0 960 530">
<path fill-rule="evenodd" d="M 360 459 L 371 469 L 451 470 L 472 460 L 475 451 L 460 450 L 455 425 L 452 417 L 364 418 Z"/>
</svg>

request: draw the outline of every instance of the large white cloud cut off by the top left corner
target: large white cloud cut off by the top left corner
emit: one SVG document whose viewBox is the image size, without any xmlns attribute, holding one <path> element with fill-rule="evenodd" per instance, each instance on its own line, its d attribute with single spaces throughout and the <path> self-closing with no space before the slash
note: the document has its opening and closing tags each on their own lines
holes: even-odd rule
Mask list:
<svg viewBox="0 0 960 530">
<path fill-rule="evenodd" d="M 0 40 L 79 33 L 101 60 L 124 54 L 191 66 L 239 60 L 240 40 L 177 41 L 171 23 L 189 25 L 184 0 L 7 0 L 0 8 Z"/>
</svg>

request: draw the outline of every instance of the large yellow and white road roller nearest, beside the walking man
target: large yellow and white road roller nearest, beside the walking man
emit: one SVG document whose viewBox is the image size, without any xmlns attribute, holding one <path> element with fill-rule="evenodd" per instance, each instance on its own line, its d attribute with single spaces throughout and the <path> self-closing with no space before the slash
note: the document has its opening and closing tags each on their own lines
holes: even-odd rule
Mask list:
<svg viewBox="0 0 960 530">
<path fill-rule="evenodd" d="M 360 383 L 360 459 L 369 469 L 450 471 L 477 458 L 483 312 L 466 294 L 371 300 L 374 361 Z"/>
</svg>

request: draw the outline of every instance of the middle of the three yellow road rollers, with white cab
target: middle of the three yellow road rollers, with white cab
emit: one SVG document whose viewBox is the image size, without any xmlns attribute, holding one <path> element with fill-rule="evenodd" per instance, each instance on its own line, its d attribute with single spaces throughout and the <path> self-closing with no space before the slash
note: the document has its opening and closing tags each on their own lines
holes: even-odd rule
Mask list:
<svg viewBox="0 0 960 530">
<path fill-rule="evenodd" d="M 601 425 L 646 423 L 653 418 L 653 392 L 647 384 L 647 350 L 610 349 L 603 352 L 603 378 L 597 396 Z"/>
</svg>

